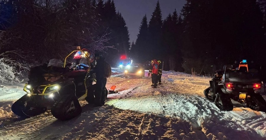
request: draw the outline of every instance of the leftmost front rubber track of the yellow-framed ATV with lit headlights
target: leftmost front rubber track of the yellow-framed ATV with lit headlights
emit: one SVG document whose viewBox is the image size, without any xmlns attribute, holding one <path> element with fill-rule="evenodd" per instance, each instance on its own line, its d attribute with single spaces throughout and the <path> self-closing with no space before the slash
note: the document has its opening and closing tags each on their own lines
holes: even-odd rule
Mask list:
<svg viewBox="0 0 266 140">
<path fill-rule="evenodd" d="M 30 97 L 26 95 L 22 96 L 11 106 L 11 110 L 22 118 L 29 118 L 44 113 L 47 108 L 40 107 L 30 101 Z"/>
</svg>

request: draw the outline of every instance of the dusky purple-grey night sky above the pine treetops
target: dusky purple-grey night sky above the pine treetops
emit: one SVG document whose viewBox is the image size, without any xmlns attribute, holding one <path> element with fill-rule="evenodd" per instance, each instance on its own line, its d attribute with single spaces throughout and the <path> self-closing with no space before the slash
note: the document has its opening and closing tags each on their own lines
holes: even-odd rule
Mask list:
<svg viewBox="0 0 266 140">
<path fill-rule="evenodd" d="M 163 20 L 169 13 L 173 13 L 176 9 L 178 15 L 185 4 L 185 0 L 159 0 L 162 10 Z M 155 9 L 157 0 L 114 0 L 116 11 L 121 12 L 126 21 L 130 34 L 130 43 L 137 39 L 139 33 L 140 22 L 145 14 L 147 14 L 148 23 Z"/>
</svg>

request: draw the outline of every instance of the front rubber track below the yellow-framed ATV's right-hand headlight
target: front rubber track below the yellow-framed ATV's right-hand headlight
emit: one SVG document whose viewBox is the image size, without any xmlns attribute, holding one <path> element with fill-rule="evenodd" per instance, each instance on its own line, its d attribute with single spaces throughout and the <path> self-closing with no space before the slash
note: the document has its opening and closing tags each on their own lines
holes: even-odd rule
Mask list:
<svg viewBox="0 0 266 140">
<path fill-rule="evenodd" d="M 81 106 L 76 96 L 66 95 L 54 103 L 51 113 L 59 120 L 69 120 L 80 115 Z"/>
</svg>

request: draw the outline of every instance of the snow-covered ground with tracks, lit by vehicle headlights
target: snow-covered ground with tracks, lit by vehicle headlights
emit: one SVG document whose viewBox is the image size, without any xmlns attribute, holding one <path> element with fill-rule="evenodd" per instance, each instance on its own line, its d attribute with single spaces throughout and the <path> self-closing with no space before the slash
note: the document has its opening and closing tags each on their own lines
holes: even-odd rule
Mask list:
<svg viewBox="0 0 266 140">
<path fill-rule="evenodd" d="M 150 78 L 124 78 L 123 70 L 112 72 L 106 87 L 116 85 L 119 93 L 109 94 L 102 107 L 80 101 L 82 114 L 69 121 L 57 120 L 50 111 L 20 120 L 11 105 L 25 94 L 23 85 L 5 85 L 0 88 L 0 139 L 266 139 L 266 113 L 234 101 L 233 111 L 220 111 L 204 98 L 210 78 L 164 72 L 163 85 L 153 89 Z"/>
</svg>

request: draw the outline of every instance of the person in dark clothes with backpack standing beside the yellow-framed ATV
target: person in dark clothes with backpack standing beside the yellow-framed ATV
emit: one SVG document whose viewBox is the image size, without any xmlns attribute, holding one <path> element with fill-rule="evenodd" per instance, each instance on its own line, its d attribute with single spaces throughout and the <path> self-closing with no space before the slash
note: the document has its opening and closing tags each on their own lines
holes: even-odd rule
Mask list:
<svg viewBox="0 0 266 140">
<path fill-rule="evenodd" d="M 95 73 L 97 81 L 95 88 L 95 106 L 103 106 L 105 103 L 105 86 L 106 77 L 104 76 L 104 62 L 105 59 L 100 54 L 95 54 L 96 65 L 94 67 L 93 73 Z"/>
</svg>

